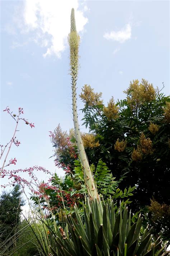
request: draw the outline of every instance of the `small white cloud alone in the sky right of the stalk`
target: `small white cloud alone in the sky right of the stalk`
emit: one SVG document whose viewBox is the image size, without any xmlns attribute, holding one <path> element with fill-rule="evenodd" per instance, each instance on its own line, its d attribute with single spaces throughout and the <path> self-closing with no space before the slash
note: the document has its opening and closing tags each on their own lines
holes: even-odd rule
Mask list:
<svg viewBox="0 0 170 256">
<path fill-rule="evenodd" d="M 128 23 L 121 30 L 111 31 L 110 33 L 105 33 L 103 36 L 107 40 L 113 40 L 113 41 L 118 41 L 123 43 L 131 38 L 131 35 L 132 35 L 131 31 L 132 31 L 131 25 Z"/>
</svg>

